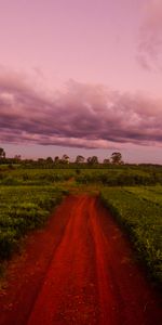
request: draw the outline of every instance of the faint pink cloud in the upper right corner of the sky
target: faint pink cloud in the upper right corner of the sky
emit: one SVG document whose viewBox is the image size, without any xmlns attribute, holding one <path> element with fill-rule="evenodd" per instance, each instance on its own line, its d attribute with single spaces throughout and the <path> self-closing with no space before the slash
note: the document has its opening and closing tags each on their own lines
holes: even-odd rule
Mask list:
<svg viewBox="0 0 162 325">
<path fill-rule="evenodd" d="M 148 0 L 139 31 L 137 61 L 147 70 L 162 70 L 162 1 Z"/>
</svg>

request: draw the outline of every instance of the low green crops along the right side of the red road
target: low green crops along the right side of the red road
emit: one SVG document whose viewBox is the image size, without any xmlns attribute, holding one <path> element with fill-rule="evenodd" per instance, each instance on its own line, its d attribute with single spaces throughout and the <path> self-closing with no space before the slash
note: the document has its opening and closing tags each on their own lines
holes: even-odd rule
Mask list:
<svg viewBox="0 0 162 325">
<path fill-rule="evenodd" d="M 129 233 L 149 274 L 162 285 L 162 186 L 106 187 L 100 197 Z"/>
</svg>

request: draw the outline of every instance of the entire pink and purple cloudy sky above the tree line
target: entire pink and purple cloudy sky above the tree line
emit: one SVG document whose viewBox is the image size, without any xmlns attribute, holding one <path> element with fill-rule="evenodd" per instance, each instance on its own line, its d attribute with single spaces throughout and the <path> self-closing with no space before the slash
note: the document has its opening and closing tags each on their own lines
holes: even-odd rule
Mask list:
<svg viewBox="0 0 162 325">
<path fill-rule="evenodd" d="M 162 164 L 162 1 L 0 0 L 6 156 Z"/>
</svg>

